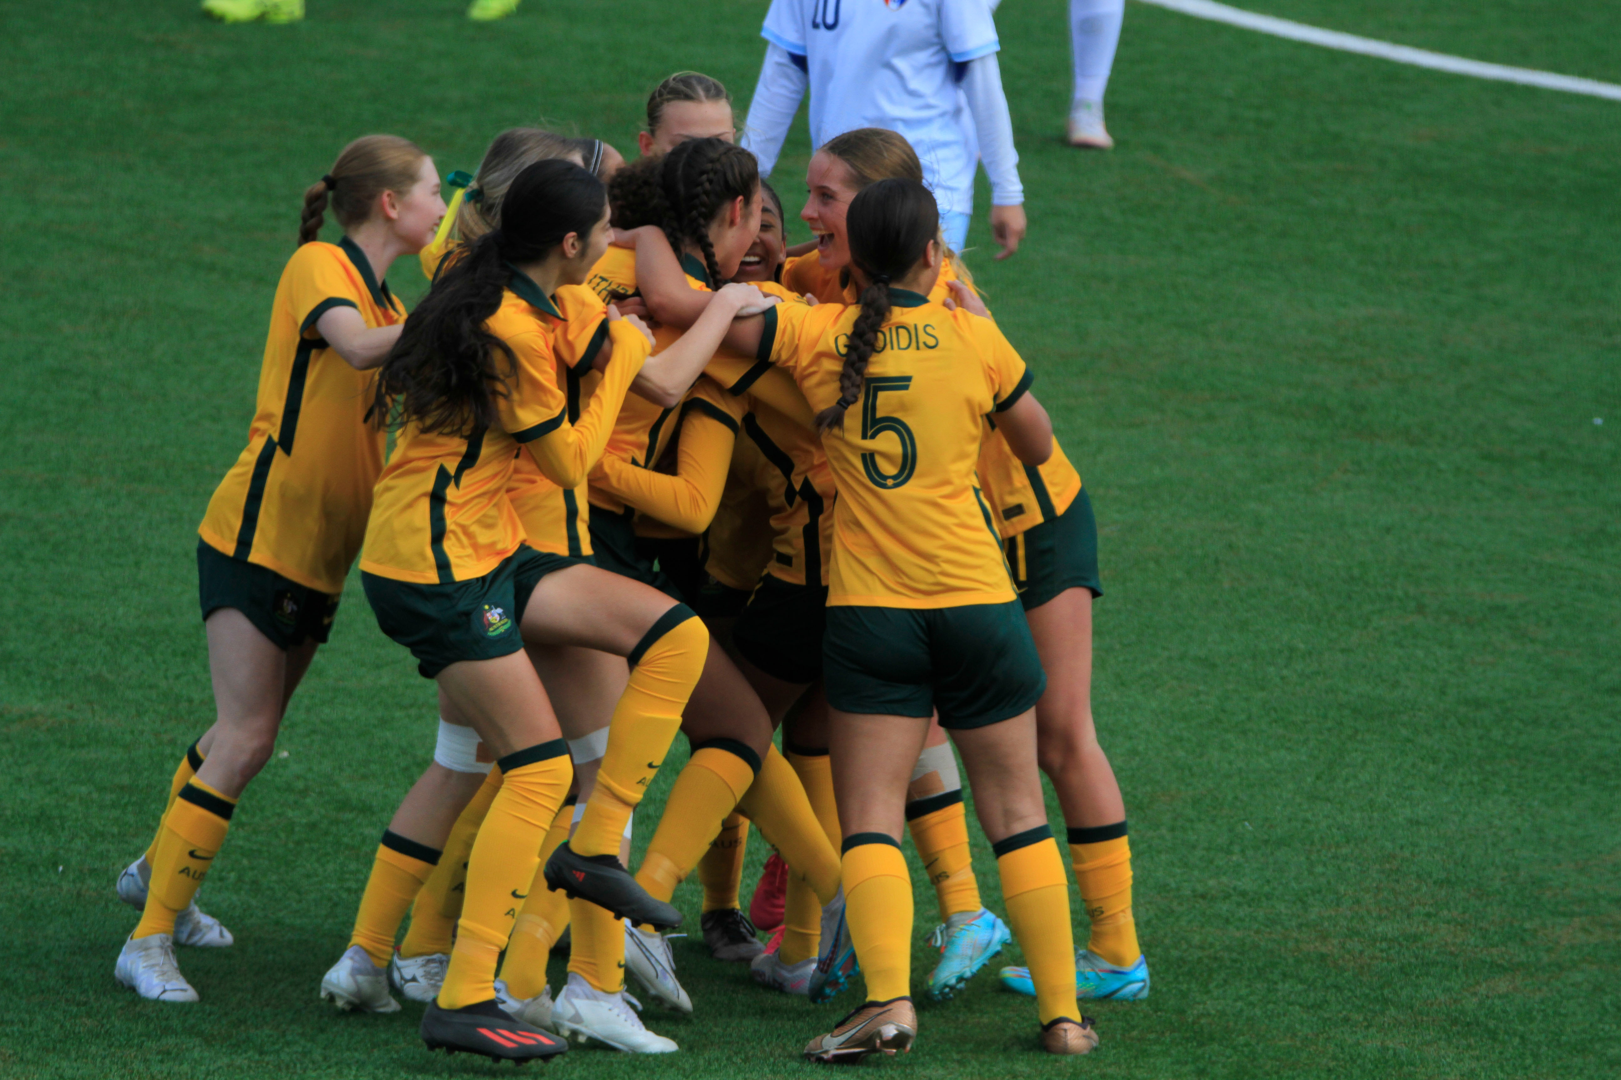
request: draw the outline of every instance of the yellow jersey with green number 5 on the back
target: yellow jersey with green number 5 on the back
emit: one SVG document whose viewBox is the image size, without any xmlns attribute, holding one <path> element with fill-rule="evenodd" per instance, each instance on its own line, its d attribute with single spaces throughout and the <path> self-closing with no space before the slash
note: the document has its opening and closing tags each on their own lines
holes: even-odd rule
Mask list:
<svg viewBox="0 0 1621 1080">
<path fill-rule="evenodd" d="M 995 322 L 892 290 L 893 311 L 843 431 L 822 437 L 838 484 L 828 604 L 1002 604 L 1013 585 L 974 468 L 987 413 L 1029 387 Z M 838 400 L 859 308 L 781 304 L 760 358 L 789 369 L 812 410 Z"/>
</svg>

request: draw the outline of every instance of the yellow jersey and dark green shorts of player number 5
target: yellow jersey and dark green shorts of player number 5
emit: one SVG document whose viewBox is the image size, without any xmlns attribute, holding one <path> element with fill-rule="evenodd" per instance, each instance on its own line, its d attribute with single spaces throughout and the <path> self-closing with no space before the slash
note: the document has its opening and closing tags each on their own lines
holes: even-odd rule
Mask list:
<svg viewBox="0 0 1621 1080">
<path fill-rule="evenodd" d="M 828 703 L 846 712 L 994 724 L 1046 688 L 1015 606 L 974 470 L 982 418 L 1008 408 L 1029 372 L 989 319 L 892 290 L 861 397 L 823 434 L 833 510 Z M 760 359 L 781 364 L 812 410 L 838 400 L 859 308 L 767 311 Z"/>
</svg>

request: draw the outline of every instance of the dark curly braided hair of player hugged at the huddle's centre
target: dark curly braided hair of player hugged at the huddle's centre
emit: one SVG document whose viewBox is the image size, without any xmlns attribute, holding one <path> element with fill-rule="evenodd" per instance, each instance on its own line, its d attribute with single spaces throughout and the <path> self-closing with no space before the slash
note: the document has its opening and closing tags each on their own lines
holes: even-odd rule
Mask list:
<svg viewBox="0 0 1621 1080">
<path fill-rule="evenodd" d="M 616 228 L 658 225 L 669 246 L 704 253 L 710 285 L 720 288 L 720 266 L 708 230 L 733 199 L 747 202 L 760 189 L 754 154 L 725 139 L 687 139 L 663 157 L 644 157 L 608 183 Z"/>
</svg>

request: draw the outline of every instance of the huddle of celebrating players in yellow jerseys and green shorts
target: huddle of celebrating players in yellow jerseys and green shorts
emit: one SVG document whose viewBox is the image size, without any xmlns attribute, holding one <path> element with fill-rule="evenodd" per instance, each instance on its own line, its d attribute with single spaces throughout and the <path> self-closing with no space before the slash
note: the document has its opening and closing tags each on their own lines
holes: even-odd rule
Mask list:
<svg viewBox="0 0 1621 1080">
<path fill-rule="evenodd" d="M 1016 941 L 1028 967 L 999 978 L 1034 999 L 1031 1044 L 1084 1054 L 1081 1001 L 1148 994 L 1089 704 L 1097 531 L 1033 372 L 906 138 L 823 142 L 815 241 L 788 248 L 734 128 L 725 87 L 681 73 L 631 162 L 514 128 L 447 206 L 433 159 L 373 134 L 308 189 L 250 440 L 199 528 L 219 721 L 118 879 L 141 908 L 122 983 L 195 1002 L 175 946 L 232 942 L 198 886 L 358 557 L 441 719 L 321 981 L 340 1009 L 399 994 L 430 1049 L 496 1059 L 676 1051 L 624 980 L 705 1007 L 668 938 L 697 871 L 713 957 L 760 993 L 848 997 L 806 1057 L 906 1051 L 908 834 L 940 908 L 930 997 Z M 384 282 L 407 256 L 431 279 L 410 317 Z M 632 874 L 678 732 L 691 756 Z M 981 900 L 950 743 L 1007 921 Z M 775 925 L 741 900 L 751 823 L 775 853 L 747 908 Z"/>
</svg>

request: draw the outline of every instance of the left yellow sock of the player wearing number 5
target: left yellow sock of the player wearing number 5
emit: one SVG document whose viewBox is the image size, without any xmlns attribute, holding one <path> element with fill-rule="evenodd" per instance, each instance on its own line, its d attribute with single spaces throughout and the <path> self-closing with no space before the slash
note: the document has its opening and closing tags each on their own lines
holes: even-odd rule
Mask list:
<svg viewBox="0 0 1621 1080">
<path fill-rule="evenodd" d="M 911 874 L 900 842 L 883 832 L 849 836 L 843 879 L 845 921 L 867 981 L 867 1001 L 909 997 Z"/>
</svg>

